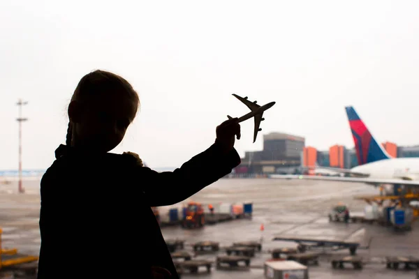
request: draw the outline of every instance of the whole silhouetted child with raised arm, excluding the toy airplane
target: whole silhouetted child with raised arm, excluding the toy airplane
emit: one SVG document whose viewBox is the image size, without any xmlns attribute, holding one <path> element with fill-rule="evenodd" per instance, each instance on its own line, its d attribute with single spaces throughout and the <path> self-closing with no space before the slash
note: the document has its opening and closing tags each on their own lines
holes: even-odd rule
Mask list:
<svg viewBox="0 0 419 279">
<path fill-rule="evenodd" d="M 182 202 L 240 164 L 240 124 L 173 172 L 142 166 L 135 153 L 108 153 L 124 138 L 140 100 L 131 84 L 96 70 L 68 106 L 66 145 L 41 180 L 38 278 L 178 278 L 152 206 Z"/>
</svg>

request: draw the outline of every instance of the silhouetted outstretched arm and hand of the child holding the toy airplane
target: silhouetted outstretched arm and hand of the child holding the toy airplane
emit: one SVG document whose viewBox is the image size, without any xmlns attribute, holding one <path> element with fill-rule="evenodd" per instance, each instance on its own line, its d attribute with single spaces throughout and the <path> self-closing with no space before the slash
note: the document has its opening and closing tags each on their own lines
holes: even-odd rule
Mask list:
<svg viewBox="0 0 419 279">
<path fill-rule="evenodd" d="M 142 181 L 149 206 L 182 202 L 240 165 L 240 156 L 233 147 L 235 136 L 240 139 L 240 125 L 236 121 L 230 119 L 218 126 L 216 142 L 173 172 L 159 173 L 137 166 L 138 179 Z"/>
</svg>

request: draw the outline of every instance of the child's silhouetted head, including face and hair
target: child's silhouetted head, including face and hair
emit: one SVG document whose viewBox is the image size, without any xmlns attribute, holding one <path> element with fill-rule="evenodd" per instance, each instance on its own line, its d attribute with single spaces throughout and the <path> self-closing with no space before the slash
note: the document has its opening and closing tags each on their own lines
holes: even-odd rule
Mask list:
<svg viewBox="0 0 419 279">
<path fill-rule="evenodd" d="M 139 106 L 133 86 L 119 75 L 103 70 L 85 75 L 68 106 L 66 144 L 96 152 L 114 149 Z"/>
</svg>

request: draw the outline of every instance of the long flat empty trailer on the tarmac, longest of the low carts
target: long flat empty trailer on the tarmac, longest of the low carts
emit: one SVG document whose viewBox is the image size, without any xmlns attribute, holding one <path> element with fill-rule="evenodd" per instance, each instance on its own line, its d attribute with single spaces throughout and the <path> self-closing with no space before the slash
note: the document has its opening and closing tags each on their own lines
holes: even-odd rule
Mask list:
<svg viewBox="0 0 419 279">
<path fill-rule="evenodd" d="M 273 239 L 274 241 L 293 241 L 298 243 L 298 250 L 305 252 L 306 250 L 314 250 L 318 248 L 332 248 L 332 250 L 349 249 L 351 255 L 356 254 L 356 249 L 360 246 L 360 243 L 348 242 L 348 241 L 333 241 L 328 239 L 309 239 L 309 238 L 294 238 L 286 236 L 278 236 Z M 313 243 L 313 244 L 306 244 Z"/>
</svg>

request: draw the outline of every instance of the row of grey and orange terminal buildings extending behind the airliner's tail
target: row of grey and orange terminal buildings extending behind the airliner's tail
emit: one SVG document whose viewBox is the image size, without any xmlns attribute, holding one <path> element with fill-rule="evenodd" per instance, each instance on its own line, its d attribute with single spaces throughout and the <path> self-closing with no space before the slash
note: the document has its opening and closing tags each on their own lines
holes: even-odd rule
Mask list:
<svg viewBox="0 0 419 279">
<path fill-rule="evenodd" d="M 397 146 L 383 142 L 383 149 L 393 158 L 419 157 L 419 145 Z M 351 169 L 358 166 L 355 149 L 336 144 L 326 151 L 305 146 L 304 137 L 287 133 L 263 135 L 262 151 L 247 151 L 235 174 L 300 174 L 307 166 Z"/>
</svg>

